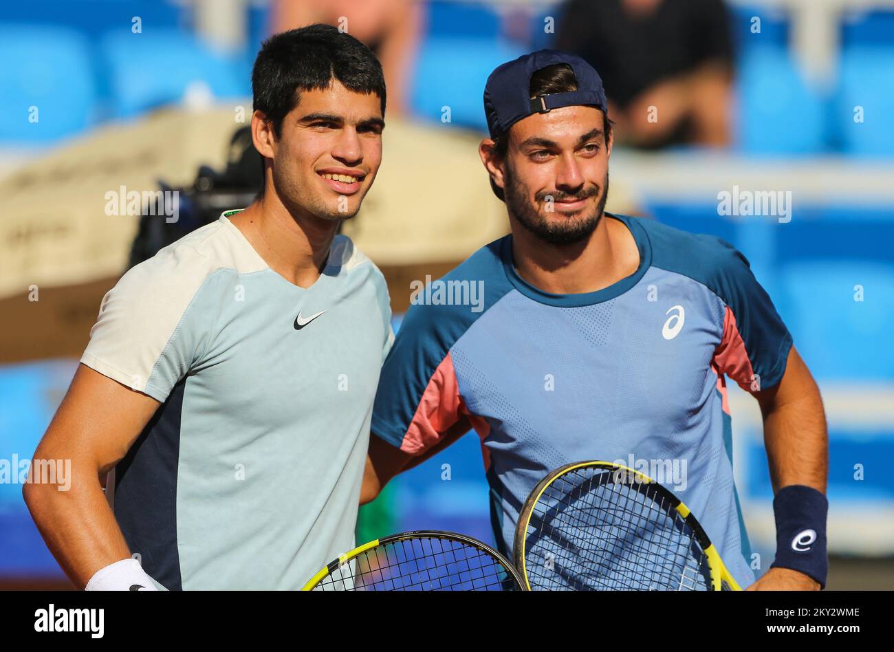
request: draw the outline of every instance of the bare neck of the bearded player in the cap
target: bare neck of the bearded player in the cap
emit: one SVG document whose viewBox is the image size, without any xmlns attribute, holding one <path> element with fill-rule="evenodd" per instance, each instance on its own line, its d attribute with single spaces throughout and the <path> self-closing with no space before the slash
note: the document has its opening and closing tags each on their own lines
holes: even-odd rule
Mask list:
<svg viewBox="0 0 894 652">
<path fill-rule="evenodd" d="M 639 267 L 637 242 L 627 226 L 603 216 L 583 241 L 552 245 L 524 227 L 512 230 L 512 258 L 527 283 L 553 294 L 597 292 L 618 283 Z"/>
</svg>

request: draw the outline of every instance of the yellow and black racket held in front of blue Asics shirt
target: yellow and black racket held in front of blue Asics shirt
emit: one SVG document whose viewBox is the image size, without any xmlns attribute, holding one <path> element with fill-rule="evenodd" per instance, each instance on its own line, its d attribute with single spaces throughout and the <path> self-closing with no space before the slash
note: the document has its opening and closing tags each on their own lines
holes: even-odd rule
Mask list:
<svg viewBox="0 0 894 652">
<path fill-rule="evenodd" d="M 515 559 L 534 590 L 740 590 L 679 498 L 607 461 L 541 480 L 519 515 Z"/>
</svg>

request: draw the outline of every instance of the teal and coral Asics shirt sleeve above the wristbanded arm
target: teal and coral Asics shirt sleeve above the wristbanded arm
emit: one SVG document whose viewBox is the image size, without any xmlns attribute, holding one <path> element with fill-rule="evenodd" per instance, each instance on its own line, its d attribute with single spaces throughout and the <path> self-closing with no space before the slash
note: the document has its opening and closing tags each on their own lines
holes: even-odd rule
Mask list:
<svg viewBox="0 0 894 652">
<path fill-rule="evenodd" d="M 723 334 L 713 364 L 746 392 L 779 385 L 792 347 L 789 329 L 747 258 L 720 242 L 724 251 L 716 282 L 724 303 Z"/>
</svg>

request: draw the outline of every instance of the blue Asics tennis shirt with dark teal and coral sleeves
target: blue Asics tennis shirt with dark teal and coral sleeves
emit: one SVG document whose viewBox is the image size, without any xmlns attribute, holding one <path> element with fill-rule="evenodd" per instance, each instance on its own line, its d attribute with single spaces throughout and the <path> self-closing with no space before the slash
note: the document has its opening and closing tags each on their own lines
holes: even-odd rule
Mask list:
<svg viewBox="0 0 894 652">
<path fill-rule="evenodd" d="M 418 455 L 468 419 L 481 438 L 494 539 L 507 554 L 522 506 L 551 470 L 585 460 L 639 470 L 687 505 L 744 588 L 755 573 L 727 378 L 753 393 L 778 385 L 791 334 L 728 242 L 605 219 L 628 228 L 639 266 L 602 290 L 528 284 L 511 236 L 429 284 L 385 360 L 373 432 Z"/>
</svg>

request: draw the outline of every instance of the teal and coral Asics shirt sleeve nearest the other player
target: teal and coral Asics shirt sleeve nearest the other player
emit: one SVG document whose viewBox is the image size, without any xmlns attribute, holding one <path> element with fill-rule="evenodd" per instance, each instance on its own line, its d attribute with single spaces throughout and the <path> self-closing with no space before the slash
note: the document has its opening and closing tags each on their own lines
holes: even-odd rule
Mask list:
<svg viewBox="0 0 894 652">
<path fill-rule="evenodd" d="M 405 453 L 424 453 L 463 415 L 443 306 L 411 306 L 384 361 L 372 431 Z M 448 326 L 445 328 L 444 326 Z"/>
</svg>

